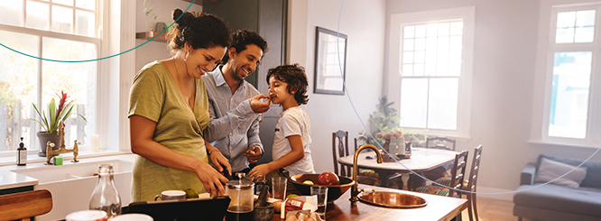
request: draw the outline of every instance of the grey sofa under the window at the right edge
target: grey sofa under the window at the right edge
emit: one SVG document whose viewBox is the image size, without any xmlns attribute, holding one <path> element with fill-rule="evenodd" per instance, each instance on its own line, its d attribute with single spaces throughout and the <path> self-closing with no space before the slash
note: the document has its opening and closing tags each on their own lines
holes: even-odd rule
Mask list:
<svg viewBox="0 0 601 221">
<path fill-rule="evenodd" d="M 513 196 L 513 216 L 518 216 L 520 221 L 522 217 L 545 221 L 601 221 L 601 161 L 587 161 L 581 166 L 586 168 L 586 175 L 582 174 L 584 180 L 575 188 L 535 182 L 543 158 L 572 166 L 584 161 L 541 154 L 535 163 L 528 163 L 522 170 L 520 187 Z"/>
</svg>

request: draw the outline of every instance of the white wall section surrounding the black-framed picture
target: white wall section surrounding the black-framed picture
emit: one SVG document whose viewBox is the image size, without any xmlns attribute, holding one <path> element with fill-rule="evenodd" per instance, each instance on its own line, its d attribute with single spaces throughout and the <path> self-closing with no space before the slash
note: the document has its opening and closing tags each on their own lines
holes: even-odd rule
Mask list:
<svg viewBox="0 0 601 221">
<path fill-rule="evenodd" d="M 333 171 L 332 133 L 348 131 L 350 150 L 382 91 L 384 67 L 384 0 L 344 1 L 339 32 L 347 34 L 347 94 L 313 94 L 315 27 L 337 31 L 341 0 L 291 0 L 289 60 L 307 70 L 310 93 L 304 106 L 311 122 L 311 157 L 317 172 Z M 365 14 L 368 14 L 365 16 Z M 304 40 L 304 41 L 303 41 Z"/>
</svg>

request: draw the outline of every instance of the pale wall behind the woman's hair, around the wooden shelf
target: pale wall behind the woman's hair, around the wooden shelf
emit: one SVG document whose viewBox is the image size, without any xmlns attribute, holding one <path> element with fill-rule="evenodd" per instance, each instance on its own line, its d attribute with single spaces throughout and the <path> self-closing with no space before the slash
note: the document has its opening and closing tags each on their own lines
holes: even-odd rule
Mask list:
<svg viewBox="0 0 601 221">
<path fill-rule="evenodd" d="M 201 2 L 201 0 L 197 0 L 197 2 Z M 153 15 L 149 14 L 148 18 L 143 13 L 144 0 L 136 0 L 136 23 L 135 23 L 135 32 L 148 32 L 151 29 L 154 29 L 155 23 L 162 22 L 167 24 L 173 23 L 171 19 L 171 12 L 176 8 L 181 9 L 181 11 L 185 11 L 186 8 L 190 5 L 189 2 L 181 1 L 181 0 L 146 0 L 146 6 L 153 6 L 154 14 L 157 15 L 156 21 L 154 21 Z M 202 5 L 192 5 L 189 12 L 202 12 Z M 165 33 L 163 33 L 165 34 Z M 135 45 L 143 44 L 145 40 L 136 39 Z M 136 49 L 135 53 L 135 70 L 138 71 L 142 69 L 144 65 L 153 60 L 165 60 L 171 58 L 170 49 L 165 42 L 159 41 L 150 41 L 140 48 Z"/>
</svg>

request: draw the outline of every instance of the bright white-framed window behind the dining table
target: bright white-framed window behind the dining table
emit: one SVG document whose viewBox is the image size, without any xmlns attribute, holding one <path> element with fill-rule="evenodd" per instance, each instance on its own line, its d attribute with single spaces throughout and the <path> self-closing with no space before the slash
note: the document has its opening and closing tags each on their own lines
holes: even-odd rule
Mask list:
<svg viewBox="0 0 601 221">
<path fill-rule="evenodd" d="M 468 137 L 473 18 L 474 7 L 391 17 L 389 95 L 402 128 Z"/>
</svg>

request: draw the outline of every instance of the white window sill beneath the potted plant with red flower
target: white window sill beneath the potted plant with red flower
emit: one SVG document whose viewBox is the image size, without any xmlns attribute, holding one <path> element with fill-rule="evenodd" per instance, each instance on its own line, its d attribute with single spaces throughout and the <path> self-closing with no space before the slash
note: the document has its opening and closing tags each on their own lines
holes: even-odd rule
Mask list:
<svg viewBox="0 0 601 221">
<path fill-rule="evenodd" d="M 120 152 L 120 151 L 100 151 L 100 152 L 92 152 L 92 151 L 81 151 L 79 152 L 78 159 L 87 159 L 87 158 L 96 158 L 96 157 L 106 157 L 106 156 L 116 156 L 116 155 L 124 155 L 131 154 L 132 152 Z M 61 153 L 63 157 L 63 161 L 71 161 L 73 160 L 73 153 Z M 40 157 L 37 155 L 37 151 L 35 154 L 27 155 L 27 163 L 38 163 L 46 161 L 45 157 Z M 9 166 L 16 164 L 16 156 L 6 156 L 0 157 L 0 166 Z"/>
</svg>

